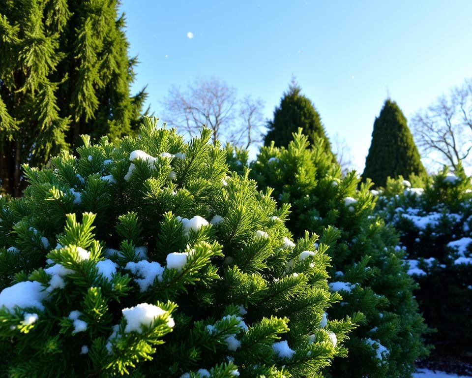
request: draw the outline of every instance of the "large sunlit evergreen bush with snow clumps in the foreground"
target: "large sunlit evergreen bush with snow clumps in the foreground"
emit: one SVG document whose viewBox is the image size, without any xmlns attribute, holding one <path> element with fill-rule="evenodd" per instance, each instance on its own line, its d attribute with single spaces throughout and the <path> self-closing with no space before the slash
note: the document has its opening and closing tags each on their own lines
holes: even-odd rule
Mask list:
<svg viewBox="0 0 472 378">
<path fill-rule="evenodd" d="M 293 242 L 289 206 L 227 176 L 210 137 L 146 118 L 138 138 L 25 167 L 0 212 L 2 372 L 302 378 L 346 354 L 352 321 L 324 315 L 336 231 Z"/>
</svg>

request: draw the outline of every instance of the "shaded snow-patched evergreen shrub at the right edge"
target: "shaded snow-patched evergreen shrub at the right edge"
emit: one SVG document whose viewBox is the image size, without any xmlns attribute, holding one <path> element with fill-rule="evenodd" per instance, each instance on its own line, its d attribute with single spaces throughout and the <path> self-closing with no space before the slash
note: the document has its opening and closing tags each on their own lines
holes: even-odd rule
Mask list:
<svg viewBox="0 0 472 378">
<path fill-rule="evenodd" d="M 413 183 L 412 183 L 413 184 Z M 438 330 L 429 337 L 442 357 L 472 352 L 472 185 L 461 167 L 444 168 L 410 187 L 409 182 L 387 181 L 376 210 L 400 232 L 409 274 L 419 284 L 415 291 L 427 323 Z"/>
</svg>

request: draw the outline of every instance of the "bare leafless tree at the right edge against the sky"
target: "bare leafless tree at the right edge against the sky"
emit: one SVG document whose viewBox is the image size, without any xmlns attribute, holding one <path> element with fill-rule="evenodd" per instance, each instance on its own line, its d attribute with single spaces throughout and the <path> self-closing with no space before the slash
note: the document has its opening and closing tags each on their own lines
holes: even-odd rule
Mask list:
<svg viewBox="0 0 472 378">
<path fill-rule="evenodd" d="M 472 80 L 441 96 L 412 119 L 418 147 L 432 161 L 456 169 L 472 149 Z"/>
</svg>

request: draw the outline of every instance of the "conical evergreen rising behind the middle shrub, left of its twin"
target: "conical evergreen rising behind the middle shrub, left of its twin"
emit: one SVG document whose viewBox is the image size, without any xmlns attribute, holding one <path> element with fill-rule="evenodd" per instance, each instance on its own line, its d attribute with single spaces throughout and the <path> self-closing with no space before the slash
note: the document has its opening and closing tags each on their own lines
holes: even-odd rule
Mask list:
<svg viewBox="0 0 472 378">
<path fill-rule="evenodd" d="M 289 90 L 280 100 L 280 106 L 274 110 L 274 119 L 268 123 L 264 144 L 269 146 L 273 141 L 277 147 L 286 147 L 292 140 L 292 133 L 301 127 L 310 143 L 316 143 L 318 138 L 322 138 L 324 151 L 332 155 L 320 114 L 310 99 L 300 92 L 301 88 L 292 80 Z"/>
</svg>

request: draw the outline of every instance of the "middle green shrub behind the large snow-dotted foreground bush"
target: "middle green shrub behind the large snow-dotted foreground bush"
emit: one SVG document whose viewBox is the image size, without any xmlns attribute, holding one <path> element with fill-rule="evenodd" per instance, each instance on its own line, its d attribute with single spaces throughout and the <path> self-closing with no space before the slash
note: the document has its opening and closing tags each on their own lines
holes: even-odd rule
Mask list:
<svg viewBox="0 0 472 378">
<path fill-rule="evenodd" d="M 361 314 L 360 326 L 346 342 L 348 357 L 335 360 L 326 374 L 411 377 L 414 361 L 426 353 L 426 326 L 412 296 L 415 285 L 403 266 L 404 253 L 395 248 L 395 232 L 373 212 L 371 184 L 357 190 L 355 172 L 341 178 L 339 166 L 321 146 L 310 144 L 299 130 L 287 148 L 264 147 L 250 166 L 260 189 L 273 188 L 280 206 L 291 204 L 286 224 L 294 236 L 308 230 L 321 234 L 319 242 L 329 246 L 328 283 L 343 300 L 328 318 Z M 244 169 L 234 164 L 240 155 L 236 151 L 233 158 L 236 171 Z"/>
</svg>

